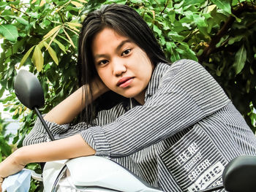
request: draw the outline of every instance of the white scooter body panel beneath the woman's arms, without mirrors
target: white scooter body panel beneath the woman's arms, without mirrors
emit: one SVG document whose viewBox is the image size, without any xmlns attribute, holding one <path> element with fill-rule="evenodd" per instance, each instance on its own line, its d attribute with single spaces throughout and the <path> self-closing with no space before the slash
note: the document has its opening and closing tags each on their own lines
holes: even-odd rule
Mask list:
<svg viewBox="0 0 256 192">
<path fill-rule="evenodd" d="M 64 166 L 70 173 L 67 180 L 78 191 L 83 188 L 84 191 L 161 192 L 108 158 L 95 155 L 46 163 L 42 173 L 45 192 L 53 191 Z"/>
</svg>

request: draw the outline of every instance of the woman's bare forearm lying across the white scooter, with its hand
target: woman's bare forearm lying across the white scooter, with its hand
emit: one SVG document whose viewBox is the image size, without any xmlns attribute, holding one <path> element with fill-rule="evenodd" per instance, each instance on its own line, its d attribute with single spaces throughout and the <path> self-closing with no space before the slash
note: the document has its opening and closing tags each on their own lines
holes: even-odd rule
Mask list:
<svg viewBox="0 0 256 192">
<path fill-rule="evenodd" d="M 0 163 L 0 191 L 1 180 L 19 172 L 26 164 L 76 158 L 94 155 L 94 153 L 95 151 L 84 142 L 79 134 L 53 142 L 20 147 Z"/>
</svg>

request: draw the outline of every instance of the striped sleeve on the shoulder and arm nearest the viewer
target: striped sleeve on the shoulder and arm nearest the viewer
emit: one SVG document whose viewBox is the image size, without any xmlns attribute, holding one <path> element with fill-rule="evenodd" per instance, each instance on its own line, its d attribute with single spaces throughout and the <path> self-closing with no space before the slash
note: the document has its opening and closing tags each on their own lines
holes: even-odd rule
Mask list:
<svg viewBox="0 0 256 192">
<path fill-rule="evenodd" d="M 157 74 L 157 68 L 154 75 Z M 203 66 L 181 60 L 168 66 L 157 91 L 113 123 L 81 131 L 96 155 L 130 155 L 170 137 L 230 102 Z"/>
</svg>

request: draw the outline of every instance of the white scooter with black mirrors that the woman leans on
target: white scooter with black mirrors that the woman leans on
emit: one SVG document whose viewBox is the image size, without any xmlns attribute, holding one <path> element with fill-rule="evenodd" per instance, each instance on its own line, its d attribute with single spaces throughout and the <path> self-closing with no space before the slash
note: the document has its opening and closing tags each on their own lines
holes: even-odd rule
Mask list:
<svg viewBox="0 0 256 192">
<path fill-rule="evenodd" d="M 37 77 L 31 72 L 20 70 L 15 79 L 14 87 L 20 102 L 37 113 L 39 120 L 53 141 L 53 134 L 51 134 L 38 110 L 44 105 L 45 99 Z M 161 192 L 116 162 L 96 155 L 47 162 L 42 174 L 32 172 L 32 177 L 43 182 L 45 192 Z M 222 174 L 223 185 L 204 189 L 200 192 L 217 191 L 222 188 L 231 192 L 256 191 L 255 178 L 256 157 L 239 156 L 225 167 Z"/>
</svg>

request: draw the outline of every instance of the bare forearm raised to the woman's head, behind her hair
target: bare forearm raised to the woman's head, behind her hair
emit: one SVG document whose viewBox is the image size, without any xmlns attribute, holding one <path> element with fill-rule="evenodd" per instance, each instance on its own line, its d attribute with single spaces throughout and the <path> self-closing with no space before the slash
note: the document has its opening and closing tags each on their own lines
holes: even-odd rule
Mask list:
<svg viewBox="0 0 256 192">
<path fill-rule="evenodd" d="M 77 91 L 67 97 L 67 99 L 61 101 L 61 103 L 54 107 L 53 110 L 50 110 L 50 112 L 45 115 L 44 119 L 59 125 L 70 123 L 86 107 L 86 101 L 84 101 L 84 86 L 86 85 L 80 87 Z M 90 86 L 92 92 L 91 101 L 94 101 L 108 91 L 108 88 L 101 80 L 99 80 L 99 77 L 97 77 Z M 89 101 L 89 103 L 91 101 Z"/>
</svg>

